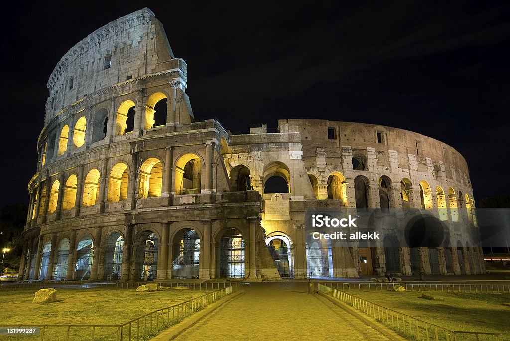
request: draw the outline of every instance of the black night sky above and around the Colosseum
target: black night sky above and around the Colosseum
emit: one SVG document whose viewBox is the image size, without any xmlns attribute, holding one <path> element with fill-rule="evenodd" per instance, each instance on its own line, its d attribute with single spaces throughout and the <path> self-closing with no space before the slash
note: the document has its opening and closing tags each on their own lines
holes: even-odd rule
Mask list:
<svg viewBox="0 0 510 341">
<path fill-rule="evenodd" d="M 508 2 L 240 3 L 4 9 L 0 207 L 28 204 L 46 82 L 57 62 L 94 30 L 143 7 L 188 63 L 196 120 L 217 117 L 234 134 L 251 123 L 276 127 L 278 118 L 408 129 L 465 156 L 475 199 L 510 193 Z"/>
</svg>

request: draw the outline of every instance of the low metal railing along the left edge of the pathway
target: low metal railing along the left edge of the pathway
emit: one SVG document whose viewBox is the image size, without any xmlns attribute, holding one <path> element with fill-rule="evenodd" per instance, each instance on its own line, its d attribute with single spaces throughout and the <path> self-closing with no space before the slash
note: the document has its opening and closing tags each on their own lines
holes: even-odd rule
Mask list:
<svg viewBox="0 0 510 341">
<path fill-rule="evenodd" d="M 197 286 L 199 283 L 196 283 Z M 31 328 L 39 327 L 37 335 L 11 334 L 0 335 L 0 340 L 37 340 L 37 341 L 141 341 L 158 335 L 164 329 L 180 322 L 193 312 L 201 310 L 212 302 L 236 292 L 239 285 L 234 283 L 214 292 L 174 304 L 166 308 L 151 311 L 129 322 L 117 325 L 91 324 L 33 324 Z M 24 326 L 24 327 L 23 327 Z M 23 325 L 0 324 L 0 327 L 28 328 Z"/>
</svg>

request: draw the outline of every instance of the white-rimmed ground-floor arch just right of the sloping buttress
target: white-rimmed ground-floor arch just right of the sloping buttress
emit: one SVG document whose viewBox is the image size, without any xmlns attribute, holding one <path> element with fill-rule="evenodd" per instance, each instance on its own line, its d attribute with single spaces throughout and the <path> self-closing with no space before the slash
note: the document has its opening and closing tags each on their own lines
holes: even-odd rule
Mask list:
<svg viewBox="0 0 510 341">
<path fill-rule="evenodd" d="M 280 277 L 294 277 L 294 247 L 290 238 L 286 235 L 273 235 L 266 239 L 266 245 Z"/>
</svg>

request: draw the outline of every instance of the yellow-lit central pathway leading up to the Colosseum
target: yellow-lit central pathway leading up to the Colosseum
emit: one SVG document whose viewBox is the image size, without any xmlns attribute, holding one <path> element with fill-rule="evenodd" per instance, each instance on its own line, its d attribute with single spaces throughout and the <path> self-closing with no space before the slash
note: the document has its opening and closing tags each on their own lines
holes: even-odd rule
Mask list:
<svg viewBox="0 0 510 341">
<path fill-rule="evenodd" d="M 377 340 L 388 338 L 307 292 L 307 283 L 253 283 L 176 340 Z"/>
</svg>

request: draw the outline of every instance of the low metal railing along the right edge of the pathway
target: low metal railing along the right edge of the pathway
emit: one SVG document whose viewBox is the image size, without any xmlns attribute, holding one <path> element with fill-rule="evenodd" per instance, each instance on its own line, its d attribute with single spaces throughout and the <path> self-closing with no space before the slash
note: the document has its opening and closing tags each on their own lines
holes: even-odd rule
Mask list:
<svg viewBox="0 0 510 341">
<path fill-rule="evenodd" d="M 360 297 L 345 293 L 331 286 L 319 283 L 318 290 L 347 303 L 367 314 L 377 322 L 387 325 L 411 340 L 434 341 L 508 341 L 510 333 L 489 333 L 478 331 L 457 331 L 443 328 L 408 314 L 378 305 Z M 328 283 L 329 284 L 329 283 Z M 378 283 L 379 284 L 379 283 Z"/>
</svg>

